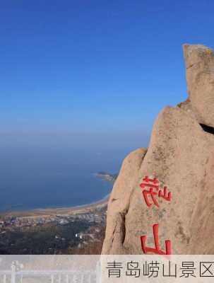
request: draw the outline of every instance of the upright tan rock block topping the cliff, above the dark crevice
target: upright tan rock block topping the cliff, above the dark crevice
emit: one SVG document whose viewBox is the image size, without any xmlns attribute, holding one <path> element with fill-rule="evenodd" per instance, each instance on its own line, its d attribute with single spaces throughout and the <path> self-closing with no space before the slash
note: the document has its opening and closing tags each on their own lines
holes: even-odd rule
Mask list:
<svg viewBox="0 0 214 283">
<path fill-rule="evenodd" d="M 184 45 L 189 98 L 198 122 L 214 127 L 214 52 L 203 45 Z"/>
</svg>

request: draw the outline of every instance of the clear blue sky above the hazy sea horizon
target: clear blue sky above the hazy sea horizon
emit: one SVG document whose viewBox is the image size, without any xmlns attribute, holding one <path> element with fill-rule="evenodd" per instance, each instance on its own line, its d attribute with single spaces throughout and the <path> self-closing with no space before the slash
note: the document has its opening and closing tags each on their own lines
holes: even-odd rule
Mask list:
<svg viewBox="0 0 214 283">
<path fill-rule="evenodd" d="M 212 0 L 8 0 L 0 10 L 1 136 L 143 146 L 157 113 L 186 99 L 182 44 L 214 47 Z"/>
</svg>

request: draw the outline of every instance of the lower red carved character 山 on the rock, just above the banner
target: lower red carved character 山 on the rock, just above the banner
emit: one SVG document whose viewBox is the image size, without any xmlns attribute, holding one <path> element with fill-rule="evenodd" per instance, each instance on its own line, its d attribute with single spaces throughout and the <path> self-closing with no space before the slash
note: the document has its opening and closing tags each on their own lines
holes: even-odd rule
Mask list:
<svg viewBox="0 0 214 283">
<path fill-rule="evenodd" d="M 153 225 L 153 236 L 155 242 L 155 248 L 148 248 L 145 245 L 147 236 L 141 236 L 141 247 L 143 253 L 155 253 L 156 255 L 172 255 L 171 241 L 165 241 L 166 251 L 162 251 L 159 245 L 159 236 L 158 236 L 158 224 Z"/>
</svg>

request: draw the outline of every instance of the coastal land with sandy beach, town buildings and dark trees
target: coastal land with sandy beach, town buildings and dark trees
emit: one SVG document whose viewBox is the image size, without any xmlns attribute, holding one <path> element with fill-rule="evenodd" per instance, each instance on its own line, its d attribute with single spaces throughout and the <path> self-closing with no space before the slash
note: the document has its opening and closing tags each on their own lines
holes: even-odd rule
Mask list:
<svg viewBox="0 0 214 283">
<path fill-rule="evenodd" d="M 91 250 L 97 253 L 98 246 L 101 253 L 110 193 L 88 204 L 0 213 L 1 250 L 4 254 L 80 254 L 86 249 L 94 254 Z"/>
</svg>

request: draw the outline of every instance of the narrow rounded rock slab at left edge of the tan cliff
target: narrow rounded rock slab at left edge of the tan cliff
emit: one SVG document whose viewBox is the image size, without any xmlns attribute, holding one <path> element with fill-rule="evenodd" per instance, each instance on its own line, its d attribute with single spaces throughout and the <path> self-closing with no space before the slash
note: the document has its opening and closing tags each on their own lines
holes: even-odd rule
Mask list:
<svg viewBox="0 0 214 283">
<path fill-rule="evenodd" d="M 129 212 L 133 190 L 138 185 L 145 149 L 137 149 L 127 156 L 114 183 L 108 204 L 107 230 L 102 253 L 121 254 L 126 236 L 126 214 Z M 126 254 L 126 253 L 125 253 Z"/>
</svg>

